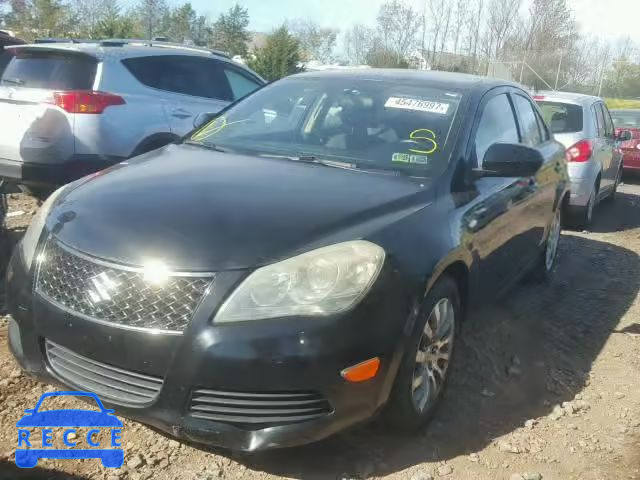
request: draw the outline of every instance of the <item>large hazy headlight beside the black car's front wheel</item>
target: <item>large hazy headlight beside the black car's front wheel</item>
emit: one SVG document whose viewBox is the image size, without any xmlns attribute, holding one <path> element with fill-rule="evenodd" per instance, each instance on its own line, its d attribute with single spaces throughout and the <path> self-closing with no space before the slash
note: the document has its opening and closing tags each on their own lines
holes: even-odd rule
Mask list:
<svg viewBox="0 0 640 480">
<path fill-rule="evenodd" d="M 355 240 L 259 268 L 231 294 L 214 323 L 342 312 L 369 291 L 384 258 L 378 245 Z"/>
</svg>

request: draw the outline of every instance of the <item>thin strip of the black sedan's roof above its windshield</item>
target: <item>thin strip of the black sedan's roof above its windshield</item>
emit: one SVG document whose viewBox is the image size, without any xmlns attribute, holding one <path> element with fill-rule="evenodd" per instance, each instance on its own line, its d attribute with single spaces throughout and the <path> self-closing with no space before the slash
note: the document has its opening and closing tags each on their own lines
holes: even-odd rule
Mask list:
<svg viewBox="0 0 640 480">
<path fill-rule="evenodd" d="M 489 89 L 501 85 L 518 86 L 514 83 L 491 77 L 466 73 L 439 72 L 432 70 L 409 70 L 402 68 L 353 68 L 345 70 L 323 70 L 294 75 L 298 78 L 354 78 L 389 80 L 394 82 L 421 83 L 451 90 Z M 521 88 L 521 87 L 520 87 Z"/>
</svg>

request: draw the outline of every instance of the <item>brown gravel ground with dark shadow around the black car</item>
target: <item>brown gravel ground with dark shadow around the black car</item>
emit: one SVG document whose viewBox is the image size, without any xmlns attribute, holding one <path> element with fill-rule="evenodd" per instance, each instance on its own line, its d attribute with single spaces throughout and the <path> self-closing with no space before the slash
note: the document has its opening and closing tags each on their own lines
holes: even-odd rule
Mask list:
<svg viewBox="0 0 640 480">
<path fill-rule="evenodd" d="M 125 464 L 13 465 L 15 422 L 52 387 L 21 374 L 0 315 L 0 478 L 640 479 L 640 180 L 564 232 L 557 275 L 472 312 L 441 409 L 421 434 L 380 422 L 315 445 L 238 455 L 180 444 L 125 420 Z M 10 200 L 12 241 L 35 204 Z M 67 405 L 84 405 L 74 400 Z"/>
</svg>

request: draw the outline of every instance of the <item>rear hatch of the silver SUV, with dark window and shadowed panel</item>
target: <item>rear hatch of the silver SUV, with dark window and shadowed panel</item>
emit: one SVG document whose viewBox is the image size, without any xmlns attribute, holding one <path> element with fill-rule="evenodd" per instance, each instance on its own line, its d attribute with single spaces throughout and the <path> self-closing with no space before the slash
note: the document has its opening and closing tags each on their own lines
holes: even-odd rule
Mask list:
<svg viewBox="0 0 640 480">
<path fill-rule="evenodd" d="M 55 106 L 54 93 L 91 90 L 98 60 L 64 49 L 11 50 L 0 78 L 0 162 L 62 163 L 74 153 L 74 116 Z"/>
</svg>

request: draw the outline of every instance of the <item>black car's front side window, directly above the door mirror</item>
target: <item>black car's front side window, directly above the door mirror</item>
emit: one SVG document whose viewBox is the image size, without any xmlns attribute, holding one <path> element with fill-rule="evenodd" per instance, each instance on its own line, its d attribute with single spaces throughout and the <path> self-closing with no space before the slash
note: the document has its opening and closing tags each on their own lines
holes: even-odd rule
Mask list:
<svg viewBox="0 0 640 480">
<path fill-rule="evenodd" d="M 536 127 L 537 128 L 537 127 Z M 484 154 L 494 143 L 518 143 L 518 128 L 506 94 L 496 95 L 484 106 L 475 139 L 476 161 L 482 166 Z"/>
</svg>

